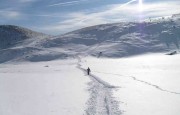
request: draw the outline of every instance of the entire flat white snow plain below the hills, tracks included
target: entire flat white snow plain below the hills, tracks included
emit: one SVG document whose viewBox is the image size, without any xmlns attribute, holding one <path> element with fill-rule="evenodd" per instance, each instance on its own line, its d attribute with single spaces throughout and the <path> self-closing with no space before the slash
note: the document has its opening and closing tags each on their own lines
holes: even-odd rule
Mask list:
<svg viewBox="0 0 180 115">
<path fill-rule="evenodd" d="M 163 53 L 1 64 L 0 114 L 179 115 L 179 68 Z"/>
</svg>

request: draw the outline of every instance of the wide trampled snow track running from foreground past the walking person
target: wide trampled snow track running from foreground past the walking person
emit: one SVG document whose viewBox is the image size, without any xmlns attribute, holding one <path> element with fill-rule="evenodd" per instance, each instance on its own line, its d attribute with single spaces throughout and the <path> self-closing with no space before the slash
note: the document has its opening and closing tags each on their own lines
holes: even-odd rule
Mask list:
<svg viewBox="0 0 180 115">
<path fill-rule="evenodd" d="M 86 74 L 86 69 L 81 67 L 81 58 L 77 56 L 77 68 Z M 120 115 L 119 102 L 112 96 L 113 89 L 117 88 L 101 80 L 97 76 L 88 75 L 91 82 L 88 83 L 90 98 L 87 101 L 87 115 Z"/>
</svg>

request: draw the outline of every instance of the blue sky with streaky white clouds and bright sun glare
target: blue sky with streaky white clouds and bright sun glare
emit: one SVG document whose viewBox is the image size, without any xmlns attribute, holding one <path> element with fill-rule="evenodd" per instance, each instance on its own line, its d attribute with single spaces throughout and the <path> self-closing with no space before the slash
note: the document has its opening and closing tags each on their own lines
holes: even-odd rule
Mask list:
<svg viewBox="0 0 180 115">
<path fill-rule="evenodd" d="M 82 27 L 180 13 L 180 0 L 0 0 L 0 24 L 58 35 Z"/>
</svg>

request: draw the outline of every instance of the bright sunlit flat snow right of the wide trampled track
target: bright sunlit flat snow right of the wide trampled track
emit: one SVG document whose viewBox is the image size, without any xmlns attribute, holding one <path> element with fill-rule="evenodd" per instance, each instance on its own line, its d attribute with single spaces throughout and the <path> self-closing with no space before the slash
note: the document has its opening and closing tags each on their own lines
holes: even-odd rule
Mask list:
<svg viewBox="0 0 180 115">
<path fill-rule="evenodd" d="M 117 87 L 123 115 L 179 115 L 180 55 L 147 54 L 122 59 L 83 59 L 83 67 Z"/>
</svg>

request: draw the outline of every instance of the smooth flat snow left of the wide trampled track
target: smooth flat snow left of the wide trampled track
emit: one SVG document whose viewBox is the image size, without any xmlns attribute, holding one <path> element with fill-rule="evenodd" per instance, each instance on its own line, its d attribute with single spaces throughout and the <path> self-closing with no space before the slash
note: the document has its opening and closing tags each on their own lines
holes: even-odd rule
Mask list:
<svg viewBox="0 0 180 115">
<path fill-rule="evenodd" d="M 76 60 L 0 65 L 0 115 L 83 115 L 90 81 Z"/>
</svg>

